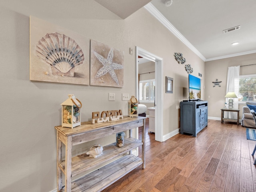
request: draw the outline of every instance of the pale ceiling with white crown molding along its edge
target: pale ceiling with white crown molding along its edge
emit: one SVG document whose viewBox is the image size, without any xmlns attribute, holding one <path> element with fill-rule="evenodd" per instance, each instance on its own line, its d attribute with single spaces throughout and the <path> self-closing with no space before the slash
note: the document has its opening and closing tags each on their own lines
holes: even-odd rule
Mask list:
<svg viewBox="0 0 256 192">
<path fill-rule="evenodd" d="M 96 0 L 122 19 L 145 5 L 204 61 L 256 53 L 255 0 L 173 0 L 169 7 L 165 1 Z M 235 26 L 240 29 L 223 33 Z"/>
</svg>

